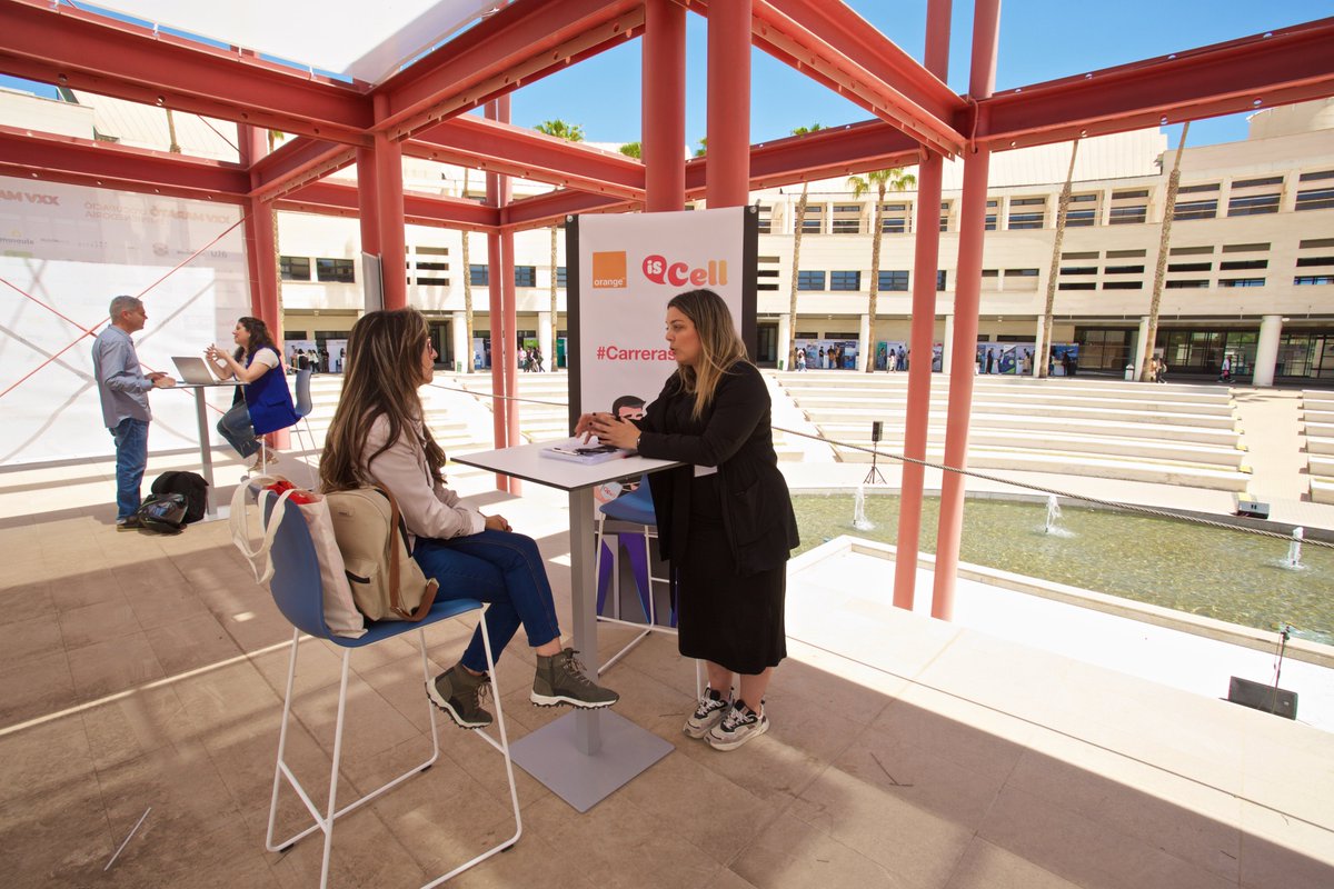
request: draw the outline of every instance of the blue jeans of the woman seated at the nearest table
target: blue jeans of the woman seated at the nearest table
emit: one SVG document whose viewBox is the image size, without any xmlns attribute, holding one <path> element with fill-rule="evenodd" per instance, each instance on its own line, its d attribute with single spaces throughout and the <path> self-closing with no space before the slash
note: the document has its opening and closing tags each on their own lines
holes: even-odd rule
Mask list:
<svg viewBox="0 0 1334 889">
<path fill-rule="evenodd" d="M 520 624 L 532 648 L 560 636 L 551 582 L 532 537 L 491 529 L 452 540 L 418 537 L 412 558 L 427 577 L 440 581 L 436 600 L 476 598 L 491 605 L 482 620 L 496 661 Z M 459 660 L 476 673 L 487 669 L 480 626 Z"/>
</svg>

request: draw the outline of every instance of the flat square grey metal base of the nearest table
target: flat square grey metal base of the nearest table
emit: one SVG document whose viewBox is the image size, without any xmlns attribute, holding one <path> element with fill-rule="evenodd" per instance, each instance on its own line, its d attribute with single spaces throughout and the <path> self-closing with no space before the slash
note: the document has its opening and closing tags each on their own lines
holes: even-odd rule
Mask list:
<svg viewBox="0 0 1334 889">
<path fill-rule="evenodd" d="M 519 738 L 510 745 L 510 754 L 519 768 L 579 812 L 594 808 L 672 750 L 670 742 L 652 732 L 603 710 L 595 716 L 602 749 L 580 753 L 575 742 L 578 716 L 567 713 Z"/>
</svg>

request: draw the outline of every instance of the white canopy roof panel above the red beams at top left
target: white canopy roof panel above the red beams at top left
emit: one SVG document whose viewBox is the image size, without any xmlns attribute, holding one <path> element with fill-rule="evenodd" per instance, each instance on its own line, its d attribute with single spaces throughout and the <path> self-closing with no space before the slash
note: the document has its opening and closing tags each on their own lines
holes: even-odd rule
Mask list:
<svg viewBox="0 0 1334 889">
<path fill-rule="evenodd" d="M 97 0 L 104 9 L 368 83 L 506 0 Z"/>
</svg>

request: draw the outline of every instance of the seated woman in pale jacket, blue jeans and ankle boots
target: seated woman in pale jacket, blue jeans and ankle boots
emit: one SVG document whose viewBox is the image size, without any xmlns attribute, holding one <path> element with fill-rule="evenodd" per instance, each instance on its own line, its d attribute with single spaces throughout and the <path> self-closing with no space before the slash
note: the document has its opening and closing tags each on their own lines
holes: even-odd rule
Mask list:
<svg viewBox="0 0 1334 889">
<path fill-rule="evenodd" d="M 436 352 L 416 309 L 370 312 L 347 341 L 343 397 L 320 458 L 325 492 L 379 486 L 394 494 L 407 522 L 412 557 L 440 584 L 436 600 L 488 602 L 495 658 L 519 626 L 538 660 L 530 700 L 540 706 L 611 706 L 619 696 L 588 680 L 575 650 L 562 648 L 551 584 L 538 544 L 510 532 L 502 516 L 483 516 L 444 485 L 444 452 L 423 421 L 418 388 L 431 381 Z M 463 728 L 491 724 L 482 628 L 459 662 L 427 682 L 427 696 Z"/>
</svg>

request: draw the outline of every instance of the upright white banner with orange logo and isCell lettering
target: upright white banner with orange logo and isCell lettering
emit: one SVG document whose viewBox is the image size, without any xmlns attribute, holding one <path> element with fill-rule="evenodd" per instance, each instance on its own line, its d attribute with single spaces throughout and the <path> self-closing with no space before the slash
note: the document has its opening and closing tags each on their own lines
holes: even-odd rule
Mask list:
<svg viewBox="0 0 1334 889">
<path fill-rule="evenodd" d="M 667 301 L 710 289 L 755 353 L 759 227 L 752 207 L 580 216 L 566 225 L 570 275 L 570 425 L 580 413 L 639 417 L 676 361 Z"/>
</svg>

